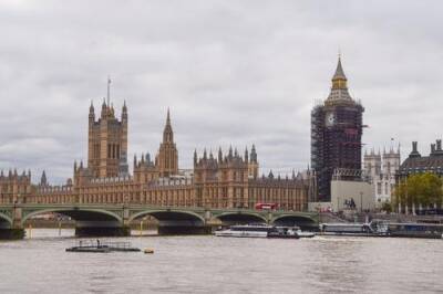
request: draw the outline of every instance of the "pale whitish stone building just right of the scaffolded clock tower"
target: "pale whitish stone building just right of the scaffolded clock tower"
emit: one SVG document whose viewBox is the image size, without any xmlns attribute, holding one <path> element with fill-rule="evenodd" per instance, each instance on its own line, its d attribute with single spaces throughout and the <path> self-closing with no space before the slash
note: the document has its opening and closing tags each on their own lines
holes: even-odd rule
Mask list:
<svg viewBox="0 0 443 294">
<path fill-rule="evenodd" d="M 374 185 L 374 198 L 377 206 L 391 201 L 396 185 L 396 172 L 400 168 L 400 146 L 396 150 L 390 148 L 389 151 L 375 153 L 373 149 L 364 151 L 363 166 L 364 172 L 370 177 Z"/>
</svg>

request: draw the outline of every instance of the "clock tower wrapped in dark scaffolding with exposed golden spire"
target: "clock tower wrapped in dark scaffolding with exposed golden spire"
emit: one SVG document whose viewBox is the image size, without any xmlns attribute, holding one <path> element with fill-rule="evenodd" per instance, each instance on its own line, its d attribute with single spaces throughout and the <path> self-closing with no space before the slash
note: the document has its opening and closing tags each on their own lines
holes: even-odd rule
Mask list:
<svg viewBox="0 0 443 294">
<path fill-rule="evenodd" d="M 347 83 L 339 57 L 328 98 L 311 112 L 311 167 L 317 180 L 315 201 L 330 201 L 336 169 L 361 170 L 364 108 L 351 97 Z"/>
</svg>

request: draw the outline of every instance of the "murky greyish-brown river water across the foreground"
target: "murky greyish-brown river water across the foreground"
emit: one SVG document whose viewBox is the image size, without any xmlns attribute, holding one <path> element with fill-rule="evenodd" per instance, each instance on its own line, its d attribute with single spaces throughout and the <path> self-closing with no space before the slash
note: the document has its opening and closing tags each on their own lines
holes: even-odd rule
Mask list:
<svg viewBox="0 0 443 294">
<path fill-rule="evenodd" d="M 111 238 L 154 254 L 69 253 L 73 230 L 0 242 L 0 293 L 434 293 L 443 240 Z"/>
</svg>

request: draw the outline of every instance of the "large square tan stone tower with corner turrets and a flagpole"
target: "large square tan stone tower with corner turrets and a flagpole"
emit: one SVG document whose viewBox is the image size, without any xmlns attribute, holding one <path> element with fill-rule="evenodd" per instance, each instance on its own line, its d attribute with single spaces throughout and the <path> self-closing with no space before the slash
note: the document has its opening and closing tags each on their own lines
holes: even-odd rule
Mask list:
<svg viewBox="0 0 443 294">
<path fill-rule="evenodd" d="M 110 87 L 110 81 L 107 90 Z M 109 92 L 107 92 L 109 95 Z M 87 169 L 94 178 L 116 177 L 127 172 L 127 108 L 124 103 L 121 120 L 107 98 L 103 99 L 100 118 L 95 120 L 94 105 L 89 115 Z"/>
</svg>

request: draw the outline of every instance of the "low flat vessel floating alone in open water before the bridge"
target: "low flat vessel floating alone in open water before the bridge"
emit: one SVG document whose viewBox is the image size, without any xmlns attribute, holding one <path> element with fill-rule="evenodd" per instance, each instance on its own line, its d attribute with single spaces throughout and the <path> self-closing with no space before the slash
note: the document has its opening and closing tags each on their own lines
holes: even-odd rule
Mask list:
<svg viewBox="0 0 443 294">
<path fill-rule="evenodd" d="M 130 242 L 110 242 L 100 240 L 80 240 L 75 246 L 68 248 L 66 252 L 93 252 L 109 253 L 117 252 L 138 252 L 138 248 L 133 248 Z"/>
</svg>

